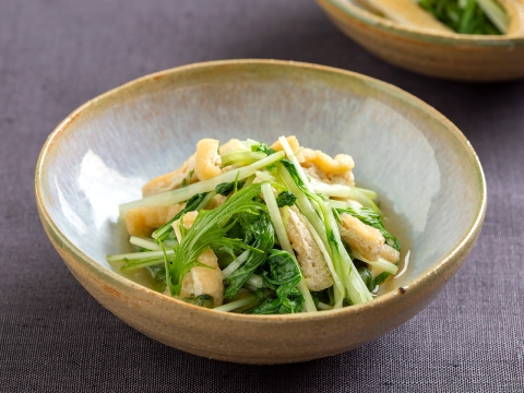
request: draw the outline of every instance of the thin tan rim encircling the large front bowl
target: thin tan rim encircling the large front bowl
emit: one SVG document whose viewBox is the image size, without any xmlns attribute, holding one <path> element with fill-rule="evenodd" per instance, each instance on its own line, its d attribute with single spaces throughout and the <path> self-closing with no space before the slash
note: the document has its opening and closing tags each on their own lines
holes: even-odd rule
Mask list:
<svg viewBox="0 0 524 393">
<path fill-rule="evenodd" d="M 484 217 L 486 214 L 487 209 L 487 189 L 486 189 L 486 179 L 483 171 L 483 167 L 480 165 L 480 160 L 475 153 L 473 146 L 471 145 L 469 141 L 465 138 L 465 135 L 454 126 L 448 118 L 445 118 L 442 114 L 440 114 L 437 109 L 431 107 L 429 104 L 426 104 L 421 99 L 415 97 L 414 95 L 396 87 L 390 83 L 377 80 L 374 78 L 370 78 L 357 72 L 347 71 L 343 69 L 337 69 L 327 66 L 320 66 L 313 63 L 306 63 L 306 62 L 297 62 L 297 61 L 286 61 L 286 60 L 272 60 L 272 59 L 235 59 L 235 60 L 217 60 L 217 61 L 206 61 L 206 62 L 198 62 L 188 66 L 181 66 L 177 68 L 171 68 L 163 71 L 158 71 L 155 73 L 146 74 L 144 76 L 132 80 L 128 83 L 124 83 L 120 86 L 109 90 L 106 93 L 103 93 L 90 100 L 85 104 L 78 107 L 73 110 L 69 116 L 67 116 L 49 134 L 47 138 L 44 146 L 41 147 L 40 154 L 38 156 L 38 160 L 35 168 L 35 196 L 36 196 L 36 204 L 38 212 L 40 214 L 40 219 L 44 224 L 44 227 L 49 229 L 48 236 L 55 235 L 61 241 L 62 248 L 68 249 L 72 252 L 72 257 L 83 264 L 83 267 L 86 267 L 91 273 L 102 275 L 105 279 L 107 279 L 111 285 L 118 285 L 121 287 L 128 287 L 132 290 L 139 290 L 142 294 L 147 294 L 148 296 L 160 297 L 164 299 L 163 301 L 174 301 L 179 303 L 183 307 L 188 308 L 188 311 L 196 312 L 196 313 L 206 313 L 209 315 L 216 315 L 221 319 L 231 319 L 231 320 L 241 320 L 241 321 L 257 321 L 257 322 L 286 322 L 286 321 L 297 321 L 297 320 L 323 320 L 323 319 L 331 319 L 335 315 L 343 315 L 343 314 L 352 314 L 352 313 L 360 313 L 365 312 L 368 309 L 377 308 L 380 305 L 388 306 L 388 303 L 393 302 L 394 299 L 398 296 L 398 290 L 391 290 L 380 297 L 376 298 L 373 301 L 356 305 L 350 307 L 344 307 L 337 310 L 325 310 L 322 312 L 300 312 L 296 314 L 282 314 L 282 315 L 251 315 L 251 314 L 241 314 L 241 313 L 233 313 L 233 312 L 223 312 L 216 311 L 213 309 L 207 309 L 203 307 L 198 307 L 194 305 L 187 303 L 182 300 L 178 300 L 172 297 L 168 297 L 155 290 L 152 290 L 143 285 L 140 285 L 117 272 L 107 269 L 96 262 L 94 259 L 86 255 L 83 251 L 81 251 L 75 245 L 72 243 L 58 228 L 57 224 L 51 218 L 49 212 L 46 209 L 44 202 L 44 193 L 41 188 L 41 178 L 43 178 L 43 168 L 46 162 L 46 157 L 48 154 L 49 148 L 52 144 L 60 138 L 61 133 L 67 130 L 68 126 L 74 121 L 74 119 L 82 114 L 82 111 L 86 110 L 87 108 L 96 105 L 96 103 L 109 98 L 111 96 L 118 95 L 121 91 L 126 91 L 132 86 L 140 85 L 146 81 L 157 80 L 163 76 L 175 74 L 175 73 L 183 73 L 189 70 L 196 70 L 196 69 L 206 69 L 206 68 L 215 68 L 215 67 L 246 67 L 246 66 L 264 66 L 264 67 L 289 67 L 289 68 L 301 68 L 306 70 L 313 70 L 313 71 L 323 71 L 330 73 L 337 73 L 340 75 L 352 76 L 356 79 L 360 79 L 366 81 L 368 84 L 371 84 L 374 88 L 381 88 L 385 91 L 388 94 L 393 94 L 395 96 L 401 96 L 402 99 L 410 102 L 412 104 L 418 105 L 421 110 L 426 110 L 430 112 L 430 115 L 439 118 L 443 123 L 448 126 L 449 131 L 463 144 L 463 147 L 472 159 L 472 164 L 476 169 L 476 178 L 478 180 L 479 187 L 479 201 L 477 204 L 477 210 L 475 217 L 469 225 L 468 229 L 465 231 L 463 237 L 453 246 L 453 248 L 443 255 L 440 260 L 436 261 L 430 267 L 426 269 L 424 272 L 418 274 L 415 278 L 409 281 L 409 283 L 405 284 L 404 287 L 410 288 L 410 291 L 415 291 L 417 288 L 424 287 L 425 283 L 430 283 L 433 277 L 436 276 L 437 271 L 440 273 L 444 273 L 446 269 L 451 269 L 452 265 L 455 263 L 456 259 L 461 257 L 464 250 L 468 250 L 476 241 L 476 238 L 481 229 L 481 225 L 484 222 Z M 51 242 L 53 240 L 51 239 Z M 61 253 L 60 253 L 61 254 Z M 61 255 L 63 258 L 63 255 Z"/>
</svg>

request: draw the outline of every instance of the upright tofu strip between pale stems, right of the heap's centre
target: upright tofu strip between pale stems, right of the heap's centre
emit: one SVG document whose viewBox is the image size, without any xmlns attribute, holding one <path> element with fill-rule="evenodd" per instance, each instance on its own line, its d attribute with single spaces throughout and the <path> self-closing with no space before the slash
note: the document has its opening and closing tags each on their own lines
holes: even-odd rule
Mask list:
<svg viewBox="0 0 524 393">
<path fill-rule="evenodd" d="M 306 224 L 307 218 L 297 207 L 289 207 L 286 233 L 310 290 L 322 290 L 333 285 L 333 276 L 324 255 L 314 242 Z"/>
</svg>

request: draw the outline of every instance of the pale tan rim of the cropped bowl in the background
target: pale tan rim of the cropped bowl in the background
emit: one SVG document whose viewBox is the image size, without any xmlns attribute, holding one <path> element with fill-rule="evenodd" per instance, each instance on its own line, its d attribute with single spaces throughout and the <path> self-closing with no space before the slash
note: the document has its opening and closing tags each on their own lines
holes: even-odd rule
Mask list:
<svg viewBox="0 0 524 393">
<path fill-rule="evenodd" d="M 348 0 L 317 0 L 322 8 L 330 8 L 338 16 L 349 23 L 355 21 L 374 27 L 380 32 L 397 35 L 403 38 L 410 38 L 429 44 L 452 46 L 452 47 L 490 47 L 490 48 L 513 48 L 524 46 L 524 34 L 519 35 L 479 35 L 436 32 L 431 29 L 403 26 L 400 23 L 385 17 L 374 15 L 361 7 Z"/>
</svg>

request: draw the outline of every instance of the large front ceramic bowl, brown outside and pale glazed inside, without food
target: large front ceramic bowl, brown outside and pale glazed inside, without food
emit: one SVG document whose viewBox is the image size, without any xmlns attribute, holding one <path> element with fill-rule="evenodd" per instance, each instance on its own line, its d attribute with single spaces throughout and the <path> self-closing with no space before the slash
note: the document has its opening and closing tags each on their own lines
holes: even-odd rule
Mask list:
<svg viewBox="0 0 524 393">
<path fill-rule="evenodd" d="M 129 249 L 118 205 L 178 167 L 200 139 L 271 143 L 282 134 L 352 154 L 357 182 L 381 195 L 403 258 L 410 251 L 406 272 L 382 296 L 317 313 L 225 313 L 156 293 L 107 264 L 106 254 Z M 461 131 L 414 96 L 343 70 L 237 60 L 147 75 L 76 109 L 41 150 L 36 200 L 73 275 L 131 326 L 210 358 L 282 364 L 361 346 L 422 310 L 473 248 L 486 184 Z"/>
</svg>

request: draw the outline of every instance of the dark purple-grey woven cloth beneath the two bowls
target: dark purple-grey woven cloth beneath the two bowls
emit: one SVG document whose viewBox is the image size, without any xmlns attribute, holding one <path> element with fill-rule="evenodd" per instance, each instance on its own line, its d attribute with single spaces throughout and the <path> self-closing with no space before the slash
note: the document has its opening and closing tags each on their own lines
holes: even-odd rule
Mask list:
<svg viewBox="0 0 524 393">
<path fill-rule="evenodd" d="M 393 83 L 448 116 L 480 156 L 489 206 L 476 248 L 433 303 L 362 348 L 258 367 L 163 346 L 99 306 L 44 234 L 34 168 L 61 119 L 145 73 L 233 58 L 315 62 Z M 312 0 L 2 0 L 0 136 L 1 392 L 524 391 L 524 82 L 395 69 Z"/>
</svg>

